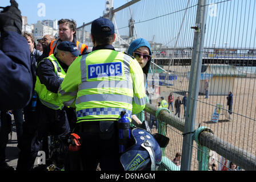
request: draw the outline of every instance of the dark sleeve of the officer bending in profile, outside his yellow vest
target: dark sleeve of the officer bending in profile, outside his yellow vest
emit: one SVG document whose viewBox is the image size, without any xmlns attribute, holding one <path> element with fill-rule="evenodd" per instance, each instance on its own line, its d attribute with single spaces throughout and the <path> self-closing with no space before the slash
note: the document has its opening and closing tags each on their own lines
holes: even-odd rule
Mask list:
<svg viewBox="0 0 256 182">
<path fill-rule="evenodd" d="M 58 59 L 57 59 L 58 60 Z M 66 64 L 59 61 L 59 64 L 65 72 L 69 68 Z M 41 84 L 45 85 L 47 90 L 58 93 L 59 86 L 62 83 L 62 79 L 56 76 L 53 63 L 49 59 L 43 59 L 37 67 L 37 76 Z"/>
</svg>

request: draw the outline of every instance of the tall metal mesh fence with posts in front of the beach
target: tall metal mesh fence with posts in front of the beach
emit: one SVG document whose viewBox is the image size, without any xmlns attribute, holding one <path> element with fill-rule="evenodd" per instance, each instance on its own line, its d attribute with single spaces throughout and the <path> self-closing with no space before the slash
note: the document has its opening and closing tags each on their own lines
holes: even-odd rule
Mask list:
<svg viewBox="0 0 256 182">
<path fill-rule="evenodd" d="M 136 38 L 151 44 L 146 118 L 151 121 L 157 114 L 158 130 L 153 126 L 153 133 L 170 138 L 163 159 L 171 163 L 179 152 L 182 170 L 207 170 L 214 165 L 217 170 L 235 170 L 231 163 L 239 166 L 236 170 L 256 169 L 255 6 L 255 0 L 137 0 L 105 15 L 116 27 L 116 49 L 127 51 Z M 93 47 L 90 23 L 77 30 L 78 40 L 89 49 Z M 179 117 L 175 108 L 159 112 L 160 97 L 168 101 L 171 92 L 174 102 L 188 93 L 185 115 L 184 105 Z M 227 107 L 229 92 L 233 93 L 232 114 Z M 203 130 L 195 142 L 198 126 Z M 165 168 L 179 169 L 172 163 Z"/>
</svg>

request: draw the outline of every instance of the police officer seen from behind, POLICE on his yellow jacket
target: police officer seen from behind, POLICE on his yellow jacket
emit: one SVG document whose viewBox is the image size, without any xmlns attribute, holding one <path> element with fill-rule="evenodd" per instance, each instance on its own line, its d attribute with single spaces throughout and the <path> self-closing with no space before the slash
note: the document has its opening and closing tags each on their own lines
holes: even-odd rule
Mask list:
<svg viewBox="0 0 256 182">
<path fill-rule="evenodd" d="M 131 121 L 145 107 L 145 86 L 138 61 L 115 51 L 114 24 L 98 18 L 91 24 L 93 51 L 77 57 L 59 88 L 60 100 L 76 107 L 75 133 L 81 137 L 83 170 L 122 170 L 115 121 L 122 110 Z"/>
</svg>

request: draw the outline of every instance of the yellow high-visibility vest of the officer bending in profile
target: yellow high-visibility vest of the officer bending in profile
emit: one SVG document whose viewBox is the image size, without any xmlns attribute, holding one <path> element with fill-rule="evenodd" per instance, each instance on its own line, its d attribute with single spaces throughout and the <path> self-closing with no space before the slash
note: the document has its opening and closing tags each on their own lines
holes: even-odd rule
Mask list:
<svg viewBox="0 0 256 182">
<path fill-rule="evenodd" d="M 56 76 L 59 78 L 65 78 L 65 71 L 62 69 L 61 65 L 58 63 L 56 57 L 52 54 L 45 59 L 49 59 L 54 65 L 54 71 Z M 41 64 L 42 61 L 39 63 Z M 58 98 L 58 93 L 53 93 L 47 90 L 46 86 L 41 84 L 39 77 L 37 76 L 37 81 L 35 82 L 35 90 L 37 91 L 38 98 L 43 105 L 50 107 L 51 109 L 62 109 L 63 104 Z"/>
</svg>

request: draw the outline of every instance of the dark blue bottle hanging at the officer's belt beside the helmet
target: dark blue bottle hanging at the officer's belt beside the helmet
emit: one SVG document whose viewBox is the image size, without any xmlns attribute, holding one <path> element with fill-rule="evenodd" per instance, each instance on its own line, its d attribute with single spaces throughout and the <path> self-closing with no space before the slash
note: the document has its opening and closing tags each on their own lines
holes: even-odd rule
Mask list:
<svg viewBox="0 0 256 182">
<path fill-rule="evenodd" d="M 121 111 L 120 116 L 118 120 L 119 153 L 123 153 L 130 139 L 130 121 L 126 118 L 125 110 Z"/>
</svg>

